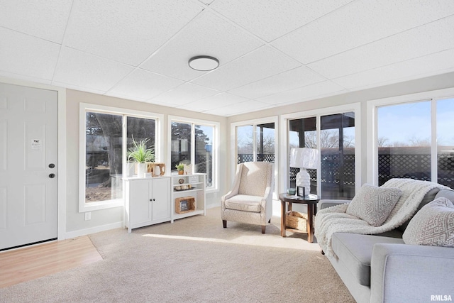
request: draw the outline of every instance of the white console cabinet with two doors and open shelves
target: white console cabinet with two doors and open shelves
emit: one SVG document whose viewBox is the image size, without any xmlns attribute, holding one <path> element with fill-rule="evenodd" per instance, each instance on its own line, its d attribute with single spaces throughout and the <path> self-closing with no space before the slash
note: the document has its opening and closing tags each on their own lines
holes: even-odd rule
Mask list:
<svg viewBox="0 0 454 303">
<path fill-rule="evenodd" d="M 131 229 L 187 216 L 206 214 L 205 174 L 129 177 L 125 185 L 125 226 Z M 177 199 L 194 199 L 193 209 L 180 211 Z"/>
</svg>

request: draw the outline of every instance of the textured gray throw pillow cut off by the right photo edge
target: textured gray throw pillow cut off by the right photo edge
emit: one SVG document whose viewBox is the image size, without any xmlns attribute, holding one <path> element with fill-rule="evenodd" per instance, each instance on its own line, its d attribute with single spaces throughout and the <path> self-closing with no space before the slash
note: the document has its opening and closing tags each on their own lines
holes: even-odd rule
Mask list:
<svg viewBox="0 0 454 303">
<path fill-rule="evenodd" d="M 454 247 L 454 205 L 438 198 L 418 211 L 402 236 L 411 245 Z"/>
</svg>

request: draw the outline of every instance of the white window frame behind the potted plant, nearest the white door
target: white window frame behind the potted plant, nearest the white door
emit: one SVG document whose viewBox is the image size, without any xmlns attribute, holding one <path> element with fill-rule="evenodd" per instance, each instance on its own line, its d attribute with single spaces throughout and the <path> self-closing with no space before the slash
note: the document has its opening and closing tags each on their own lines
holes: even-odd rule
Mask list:
<svg viewBox="0 0 454 303">
<path fill-rule="evenodd" d="M 155 114 L 145 111 L 135 111 L 133 109 L 122 109 L 113 106 L 104 106 L 98 104 L 88 104 L 88 103 L 80 103 L 79 104 L 79 213 L 86 212 L 86 211 L 95 211 L 99 209 L 110 209 L 114 207 L 124 206 L 124 197 L 125 197 L 125 177 L 123 176 L 123 197 L 121 199 L 111 199 L 101 202 L 85 202 L 85 163 L 87 157 L 86 142 L 85 142 L 85 130 L 87 126 L 87 112 L 98 112 L 101 114 L 113 114 L 123 117 L 123 139 L 122 139 L 122 158 L 123 158 L 123 165 L 122 170 L 123 174 L 126 174 L 128 171 L 127 161 L 126 161 L 126 153 L 127 153 L 127 139 L 126 138 L 126 118 L 128 116 L 136 117 L 136 118 L 143 118 L 143 119 L 154 119 L 156 121 L 155 124 L 155 156 L 156 162 L 160 162 L 162 157 L 164 146 L 160 144 L 161 139 L 163 137 L 163 130 L 162 130 L 162 121 L 164 119 L 164 115 L 162 114 Z"/>
</svg>

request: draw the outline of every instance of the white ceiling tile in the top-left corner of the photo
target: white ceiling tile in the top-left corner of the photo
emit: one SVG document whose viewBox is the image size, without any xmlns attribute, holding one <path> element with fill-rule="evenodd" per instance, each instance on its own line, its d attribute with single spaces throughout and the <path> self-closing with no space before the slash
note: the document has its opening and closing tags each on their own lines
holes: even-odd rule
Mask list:
<svg viewBox="0 0 454 303">
<path fill-rule="evenodd" d="M 72 0 L 1 1 L 0 26 L 62 43 Z"/>
</svg>

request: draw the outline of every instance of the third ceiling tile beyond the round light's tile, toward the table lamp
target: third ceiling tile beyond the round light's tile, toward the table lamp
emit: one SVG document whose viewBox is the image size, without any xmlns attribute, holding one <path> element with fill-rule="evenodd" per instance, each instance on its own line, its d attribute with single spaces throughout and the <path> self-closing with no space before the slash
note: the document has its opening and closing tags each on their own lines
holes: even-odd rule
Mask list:
<svg viewBox="0 0 454 303">
<path fill-rule="evenodd" d="M 292 89 L 288 92 L 282 92 L 279 94 L 272 94 L 267 97 L 258 98 L 258 100 L 267 104 L 283 105 L 306 101 L 322 96 L 324 97 L 335 92 L 346 92 L 346 89 L 331 81 L 324 81 L 316 84 L 311 84 L 306 87 Z"/>
</svg>

